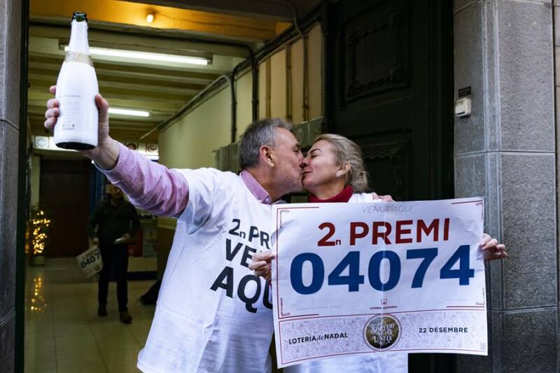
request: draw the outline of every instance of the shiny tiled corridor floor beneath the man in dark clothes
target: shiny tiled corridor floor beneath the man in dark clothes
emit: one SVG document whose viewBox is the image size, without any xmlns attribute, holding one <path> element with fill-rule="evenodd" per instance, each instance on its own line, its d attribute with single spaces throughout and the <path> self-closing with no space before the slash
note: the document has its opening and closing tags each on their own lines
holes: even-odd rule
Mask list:
<svg viewBox="0 0 560 373">
<path fill-rule="evenodd" d="M 109 286 L 109 316 L 97 316 L 97 282 L 86 279 L 74 258 L 48 258 L 27 267 L 25 372 L 139 372 L 137 355 L 148 336 L 154 306 L 138 302 L 153 281 L 129 281 L 129 311 L 118 319 L 116 283 Z"/>
</svg>

